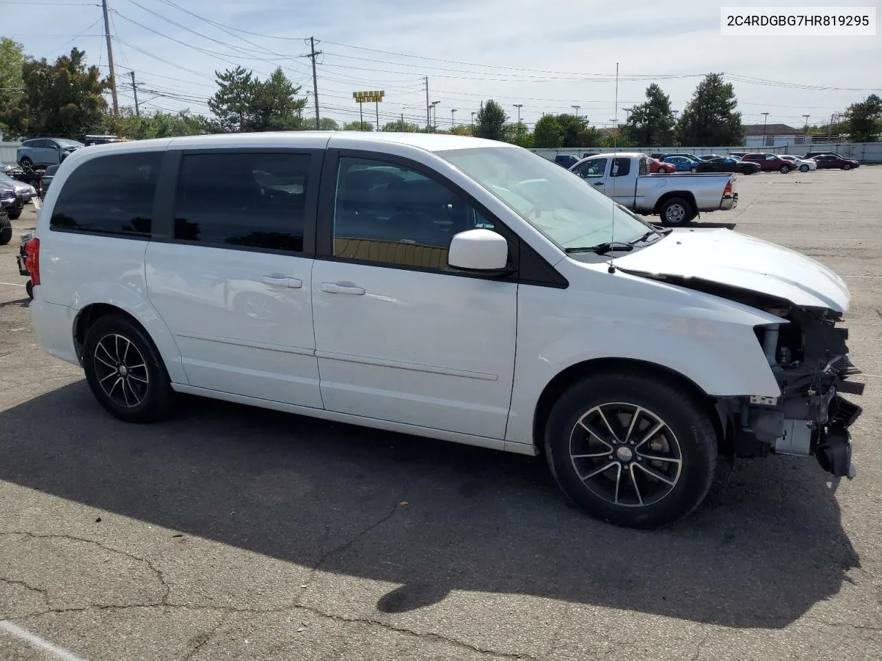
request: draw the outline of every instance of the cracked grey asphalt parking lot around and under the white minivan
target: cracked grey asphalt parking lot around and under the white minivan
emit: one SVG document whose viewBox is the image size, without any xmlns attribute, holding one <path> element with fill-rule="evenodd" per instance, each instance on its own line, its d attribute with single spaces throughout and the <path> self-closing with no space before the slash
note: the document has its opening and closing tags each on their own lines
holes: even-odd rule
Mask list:
<svg viewBox="0 0 882 661">
<path fill-rule="evenodd" d="M 882 167 L 738 187 L 696 227 L 851 288 L 857 477 L 740 462 L 653 532 L 568 508 L 538 458 L 190 398 L 109 418 L 34 343 L 26 212 L 0 248 L 0 658 L 878 660 Z"/>
</svg>

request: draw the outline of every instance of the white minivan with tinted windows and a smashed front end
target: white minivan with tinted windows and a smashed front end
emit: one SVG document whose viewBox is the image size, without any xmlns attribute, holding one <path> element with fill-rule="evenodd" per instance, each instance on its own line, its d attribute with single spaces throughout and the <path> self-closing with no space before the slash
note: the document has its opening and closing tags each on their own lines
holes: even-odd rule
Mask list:
<svg viewBox="0 0 882 661">
<path fill-rule="evenodd" d="M 42 349 L 122 420 L 190 393 L 544 454 L 589 514 L 642 528 L 698 507 L 718 457 L 854 475 L 838 276 L 654 227 L 517 146 L 93 146 L 58 168 L 26 251 Z"/>
</svg>

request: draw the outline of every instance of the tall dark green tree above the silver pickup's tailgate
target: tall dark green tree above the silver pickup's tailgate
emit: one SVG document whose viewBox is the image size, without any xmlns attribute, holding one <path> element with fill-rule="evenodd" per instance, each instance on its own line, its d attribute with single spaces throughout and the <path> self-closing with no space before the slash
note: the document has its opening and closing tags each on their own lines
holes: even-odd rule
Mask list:
<svg viewBox="0 0 882 661">
<path fill-rule="evenodd" d="M 744 126 L 737 103 L 731 83 L 724 83 L 721 74 L 707 74 L 680 115 L 680 143 L 686 147 L 743 145 Z"/>
</svg>

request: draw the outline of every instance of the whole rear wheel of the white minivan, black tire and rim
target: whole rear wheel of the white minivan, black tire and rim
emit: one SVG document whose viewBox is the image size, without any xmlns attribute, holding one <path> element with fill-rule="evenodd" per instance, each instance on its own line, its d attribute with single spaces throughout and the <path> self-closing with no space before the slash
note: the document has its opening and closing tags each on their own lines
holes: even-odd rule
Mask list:
<svg viewBox="0 0 882 661">
<path fill-rule="evenodd" d="M 126 342 L 131 344 L 126 345 Z M 128 346 L 128 358 L 122 355 L 125 346 Z M 131 358 L 132 348 L 138 350 L 134 359 Z M 115 372 L 113 365 L 120 364 L 115 359 L 121 357 L 126 369 Z M 137 367 L 141 360 L 144 368 Z M 174 390 L 165 364 L 153 340 L 128 317 L 119 314 L 102 316 L 89 327 L 83 343 L 83 364 L 93 395 L 116 418 L 126 422 L 155 422 L 167 418 L 171 413 Z M 120 379 L 123 380 L 121 385 Z M 145 380 L 146 385 L 143 383 Z M 111 384 L 107 386 L 110 394 L 102 382 Z M 126 390 L 127 384 L 129 390 Z M 124 404 L 121 401 L 123 397 L 132 405 Z"/>
</svg>

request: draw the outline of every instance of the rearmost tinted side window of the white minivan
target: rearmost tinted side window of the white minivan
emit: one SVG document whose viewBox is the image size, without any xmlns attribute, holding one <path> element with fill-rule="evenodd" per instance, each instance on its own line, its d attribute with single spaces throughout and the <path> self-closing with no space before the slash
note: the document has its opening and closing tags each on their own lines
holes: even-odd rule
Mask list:
<svg viewBox="0 0 882 661">
<path fill-rule="evenodd" d="M 87 160 L 64 182 L 50 227 L 101 234 L 150 234 L 161 161 L 162 152 Z"/>
</svg>

